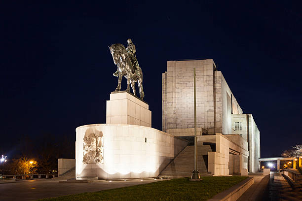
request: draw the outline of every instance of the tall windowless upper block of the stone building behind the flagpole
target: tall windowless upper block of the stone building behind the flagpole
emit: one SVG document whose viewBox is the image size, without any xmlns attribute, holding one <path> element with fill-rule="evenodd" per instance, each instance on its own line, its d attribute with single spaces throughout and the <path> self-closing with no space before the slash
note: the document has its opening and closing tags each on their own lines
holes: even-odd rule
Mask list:
<svg viewBox="0 0 302 201">
<path fill-rule="evenodd" d="M 194 127 L 194 67 L 197 128 L 208 134 L 231 134 L 231 112 L 242 113 L 242 109 L 212 59 L 167 62 L 167 72 L 162 73 L 163 131 Z"/>
</svg>

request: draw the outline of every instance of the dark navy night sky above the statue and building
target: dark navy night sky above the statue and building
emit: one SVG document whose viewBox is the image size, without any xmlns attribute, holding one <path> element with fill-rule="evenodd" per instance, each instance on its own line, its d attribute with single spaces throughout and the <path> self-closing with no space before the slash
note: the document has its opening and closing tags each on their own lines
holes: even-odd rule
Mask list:
<svg viewBox="0 0 302 201">
<path fill-rule="evenodd" d="M 166 61 L 210 58 L 253 114 L 262 157 L 302 144 L 302 1 L 97 2 L 1 3 L 2 152 L 13 155 L 24 136 L 45 133 L 74 143 L 76 127 L 106 123 L 117 84 L 108 45 L 127 38 L 153 128 L 161 130 Z"/>
</svg>

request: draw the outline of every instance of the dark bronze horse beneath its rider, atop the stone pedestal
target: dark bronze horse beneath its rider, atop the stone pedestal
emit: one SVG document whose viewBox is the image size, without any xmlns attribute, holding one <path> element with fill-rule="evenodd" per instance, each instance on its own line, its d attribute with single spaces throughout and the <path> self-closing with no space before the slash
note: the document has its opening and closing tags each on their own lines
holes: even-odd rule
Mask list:
<svg viewBox="0 0 302 201">
<path fill-rule="evenodd" d="M 113 58 L 113 63 L 117 66 L 118 70 L 118 83 L 115 91 L 120 91 L 120 84 L 122 77 L 124 76 L 127 79 L 127 92 L 130 92 L 130 84 L 135 94 L 135 83 L 138 83 L 141 99 L 144 99 L 144 90 L 143 90 L 143 72 L 141 67 L 134 65 L 130 59 L 129 53 L 122 44 L 113 44 L 109 47 L 110 53 Z"/>
</svg>

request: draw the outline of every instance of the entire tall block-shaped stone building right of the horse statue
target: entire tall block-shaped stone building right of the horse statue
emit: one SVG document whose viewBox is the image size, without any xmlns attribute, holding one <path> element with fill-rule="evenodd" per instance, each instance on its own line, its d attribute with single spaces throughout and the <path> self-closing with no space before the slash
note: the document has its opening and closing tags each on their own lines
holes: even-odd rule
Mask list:
<svg viewBox="0 0 302 201">
<path fill-rule="evenodd" d="M 231 173 L 231 161 L 237 158 L 241 169 L 248 167 L 249 172 L 258 171 L 260 132 L 252 114 L 243 113 L 222 72 L 217 70 L 212 59 L 167 62 L 167 71 L 162 73 L 163 132 L 185 139 L 194 135 L 193 68 L 196 69 L 197 140 L 200 145 L 216 145 L 216 154 L 221 156 L 216 156 L 217 162 L 214 162 L 219 165 L 212 164 L 216 166 L 215 171 L 226 174 L 228 168 Z M 218 152 L 222 149 L 223 142 L 216 139 L 215 135 L 219 135 L 227 144 L 238 145 L 244 151 L 240 153 L 229 146 L 229 150 L 224 153 Z M 217 140 L 220 140 L 219 144 Z M 209 162 L 213 157 L 210 155 Z M 213 171 L 212 169 L 212 173 Z"/>
</svg>

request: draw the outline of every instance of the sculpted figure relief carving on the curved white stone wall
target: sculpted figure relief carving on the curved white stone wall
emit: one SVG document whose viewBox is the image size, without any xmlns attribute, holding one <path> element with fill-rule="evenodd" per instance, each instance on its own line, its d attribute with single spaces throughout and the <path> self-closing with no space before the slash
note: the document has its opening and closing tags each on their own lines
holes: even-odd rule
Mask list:
<svg viewBox="0 0 302 201">
<path fill-rule="evenodd" d="M 103 136 L 95 134 L 85 135 L 83 139 L 83 164 L 102 164 L 103 160 Z"/>
</svg>

